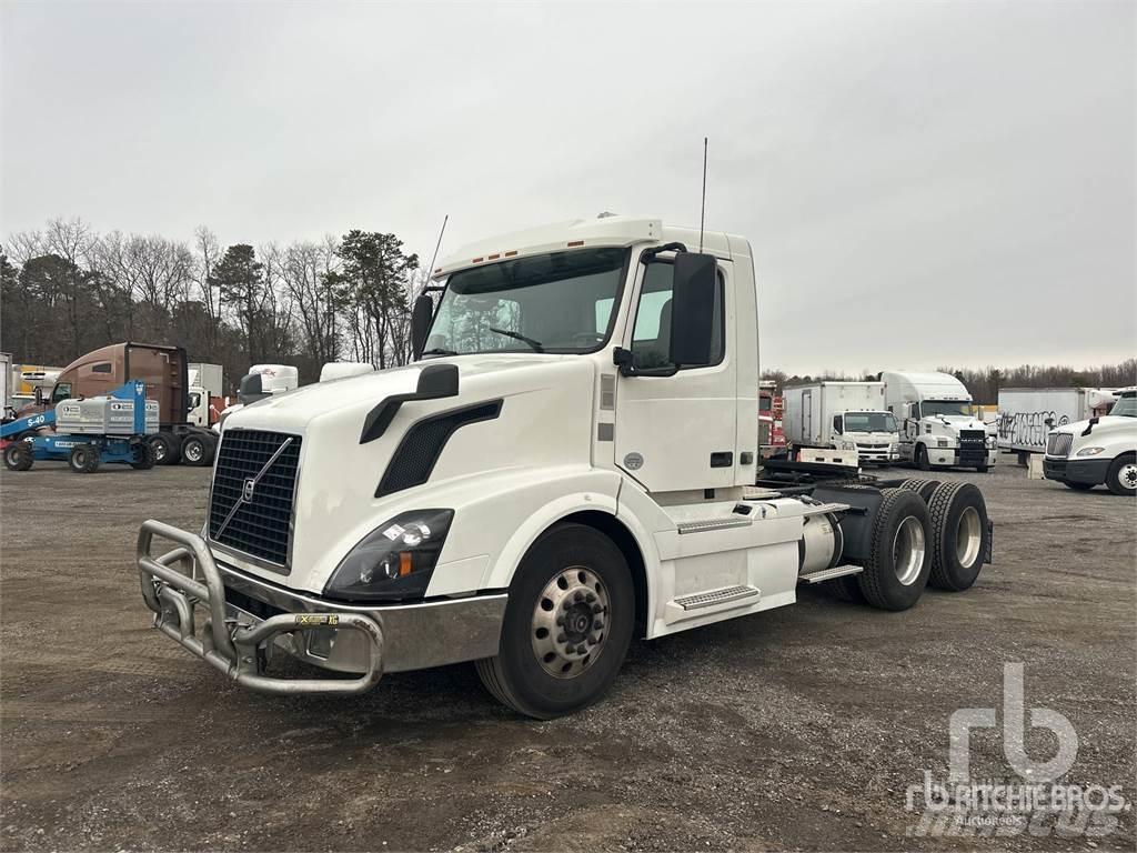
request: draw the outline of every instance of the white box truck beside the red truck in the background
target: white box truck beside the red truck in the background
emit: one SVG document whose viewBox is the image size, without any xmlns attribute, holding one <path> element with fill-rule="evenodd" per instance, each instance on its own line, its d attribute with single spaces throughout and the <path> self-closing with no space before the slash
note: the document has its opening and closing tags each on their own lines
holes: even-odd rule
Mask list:
<svg viewBox="0 0 1137 853">
<path fill-rule="evenodd" d="M 896 419 L 885 408 L 883 382 L 807 382 L 783 391 L 782 426 L 795 447 L 855 450 L 861 465 L 899 457 Z"/>
</svg>

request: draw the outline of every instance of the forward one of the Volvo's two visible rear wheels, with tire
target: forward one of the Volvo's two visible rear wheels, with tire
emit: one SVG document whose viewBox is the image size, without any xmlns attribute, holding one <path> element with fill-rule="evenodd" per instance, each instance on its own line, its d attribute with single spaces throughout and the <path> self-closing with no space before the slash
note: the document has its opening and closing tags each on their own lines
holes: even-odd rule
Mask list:
<svg viewBox="0 0 1137 853">
<path fill-rule="evenodd" d="M 931 525 L 923 499 L 908 489 L 882 489 L 872 520 L 869 560 L 856 575 L 865 601 L 880 610 L 907 610 L 931 571 Z"/>
</svg>

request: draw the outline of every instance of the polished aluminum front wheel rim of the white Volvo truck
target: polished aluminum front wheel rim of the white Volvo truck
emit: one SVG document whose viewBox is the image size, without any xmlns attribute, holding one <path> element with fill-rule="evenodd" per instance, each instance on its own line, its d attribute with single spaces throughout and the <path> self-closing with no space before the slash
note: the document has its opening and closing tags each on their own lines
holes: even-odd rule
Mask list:
<svg viewBox="0 0 1137 853">
<path fill-rule="evenodd" d="M 574 565 L 558 572 L 533 607 L 533 654 L 555 678 L 575 678 L 604 651 L 608 590 L 591 571 Z"/>
</svg>

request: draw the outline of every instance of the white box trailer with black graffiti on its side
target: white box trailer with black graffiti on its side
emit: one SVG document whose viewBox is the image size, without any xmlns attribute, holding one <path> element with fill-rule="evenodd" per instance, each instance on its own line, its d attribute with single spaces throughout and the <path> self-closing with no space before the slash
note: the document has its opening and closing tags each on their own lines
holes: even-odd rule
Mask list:
<svg viewBox="0 0 1137 853">
<path fill-rule="evenodd" d="M 1113 388 L 1001 388 L 998 448 L 1019 454 L 1046 452 L 1051 430 L 1106 414 L 1117 400 Z"/>
</svg>

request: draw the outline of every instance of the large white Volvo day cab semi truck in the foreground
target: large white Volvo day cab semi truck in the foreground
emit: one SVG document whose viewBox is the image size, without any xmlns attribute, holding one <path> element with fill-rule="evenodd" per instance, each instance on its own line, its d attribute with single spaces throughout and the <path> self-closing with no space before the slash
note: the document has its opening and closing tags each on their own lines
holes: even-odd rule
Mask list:
<svg viewBox="0 0 1137 853">
<path fill-rule="evenodd" d="M 989 561 L 969 483 L 755 486 L 744 238 L 606 217 L 468 246 L 432 276 L 414 363 L 234 412 L 200 531 L 142 524 L 156 628 L 238 684 L 354 695 L 474 661 L 550 718 L 603 696 L 633 636 L 813 582 L 903 610 Z"/>
</svg>

